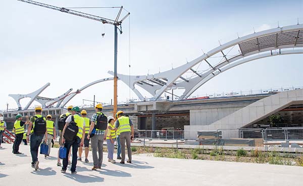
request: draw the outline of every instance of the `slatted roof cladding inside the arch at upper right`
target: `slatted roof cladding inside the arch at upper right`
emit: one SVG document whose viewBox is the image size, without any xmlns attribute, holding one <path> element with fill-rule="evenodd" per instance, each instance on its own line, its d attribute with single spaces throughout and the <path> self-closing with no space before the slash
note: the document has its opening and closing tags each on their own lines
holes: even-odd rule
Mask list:
<svg viewBox="0 0 303 186">
<path fill-rule="evenodd" d="M 252 51 L 261 50 L 268 47 L 278 47 L 280 45 L 288 45 L 303 43 L 303 31 L 290 31 L 282 32 L 263 37 L 257 37 L 242 43 L 239 43 L 239 47 L 242 54 L 246 54 Z"/>
</svg>

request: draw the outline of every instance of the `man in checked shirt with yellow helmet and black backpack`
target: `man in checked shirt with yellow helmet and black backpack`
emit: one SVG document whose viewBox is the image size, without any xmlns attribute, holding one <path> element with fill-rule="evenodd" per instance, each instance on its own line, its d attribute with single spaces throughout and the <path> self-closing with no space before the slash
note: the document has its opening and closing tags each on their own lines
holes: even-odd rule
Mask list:
<svg viewBox="0 0 303 186">
<path fill-rule="evenodd" d="M 95 128 L 96 132 L 94 136 L 91 138 L 91 151 L 92 151 L 92 160 L 93 160 L 93 167 L 92 170 L 100 169 L 103 162 L 103 143 L 104 143 L 104 136 L 105 130 L 107 129 L 108 119 L 107 116 L 102 113 L 102 104 L 98 103 L 95 106 L 95 111 L 91 118 L 91 125 L 89 128 L 87 139 L 90 138 L 91 132 Z M 98 155 L 97 155 L 98 152 Z"/>
</svg>

